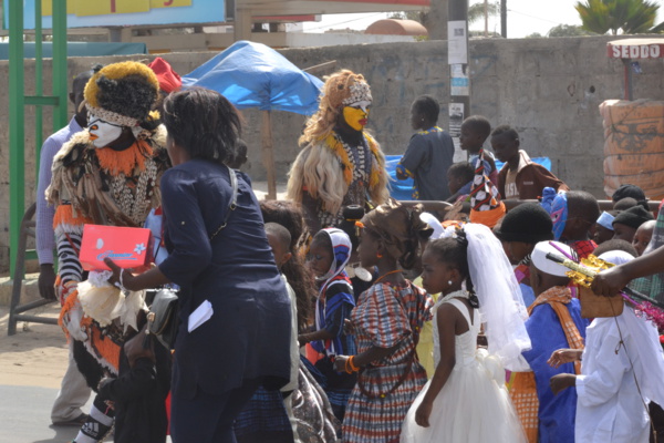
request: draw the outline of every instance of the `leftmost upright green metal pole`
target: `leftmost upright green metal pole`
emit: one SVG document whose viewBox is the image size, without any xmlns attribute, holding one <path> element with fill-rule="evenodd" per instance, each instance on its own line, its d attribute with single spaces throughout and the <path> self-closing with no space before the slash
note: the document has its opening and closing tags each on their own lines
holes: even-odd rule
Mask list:
<svg viewBox="0 0 664 443">
<path fill-rule="evenodd" d="M 23 1 L 9 1 L 9 260 L 13 276 L 25 210 Z"/>
</svg>

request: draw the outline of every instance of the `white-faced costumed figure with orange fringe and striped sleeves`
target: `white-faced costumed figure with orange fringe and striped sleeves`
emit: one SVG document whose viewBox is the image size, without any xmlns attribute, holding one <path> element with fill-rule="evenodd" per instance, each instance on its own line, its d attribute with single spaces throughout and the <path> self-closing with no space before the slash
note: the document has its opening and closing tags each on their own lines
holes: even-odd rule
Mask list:
<svg viewBox="0 0 664 443">
<path fill-rule="evenodd" d="M 53 161 L 46 199 L 60 261 L 56 292 L 61 324 L 74 341 L 74 359 L 91 388 L 104 372 L 117 374 L 126 326 L 136 327 L 141 293 L 124 293 L 103 272 L 83 281 L 79 260 L 84 224 L 141 227 L 159 206 L 159 179 L 167 167 L 166 130 L 152 112 L 159 91 L 144 64 L 122 62 L 98 70 L 85 86 L 89 127 L 75 134 Z M 113 410 L 95 400 L 77 443 L 101 441 Z"/>
</svg>

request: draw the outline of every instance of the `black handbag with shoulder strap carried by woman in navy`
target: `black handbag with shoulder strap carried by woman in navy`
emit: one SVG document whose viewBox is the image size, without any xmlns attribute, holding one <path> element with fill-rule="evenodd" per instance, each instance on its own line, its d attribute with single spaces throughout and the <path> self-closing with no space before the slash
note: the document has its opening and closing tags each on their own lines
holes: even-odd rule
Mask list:
<svg viewBox="0 0 664 443">
<path fill-rule="evenodd" d="M 228 224 L 230 213 L 237 207 L 238 198 L 238 179 L 235 171 L 228 167 L 228 174 L 230 178 L 230 186 L 232 188 L 232 196 L 230 198 L 230 205 L 224 217 L 224 223 L 219 228 L 209 236 L 210 241 L 219 234 Z M 147 313 L 147 330 L 148 336 L 154 336 L 166 347 L 166 349 L 175 348 L 175 338 L 177 337 L 178 329 L 178 297 L 177 291 L 173 289 L 159 289 L 155 295 L 155 298 L 149 307 Z"/>
</svg>

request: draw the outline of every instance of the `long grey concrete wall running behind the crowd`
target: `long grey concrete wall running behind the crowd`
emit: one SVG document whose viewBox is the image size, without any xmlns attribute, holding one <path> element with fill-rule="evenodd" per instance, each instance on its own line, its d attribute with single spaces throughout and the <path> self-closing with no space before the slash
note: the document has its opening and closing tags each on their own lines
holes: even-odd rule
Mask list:
<svg viewBox="0 0 664 443">
<path fill-rule="evenodd" d="M 510 124 L 531 156 L 551 157 L 553 172 L 572 188 L 598 197 L 602 192 L 602 122 L 598 105 L 623 96 L 623 65 L 606 56 L 610 37 L 474 40 L 470 42 L 471 111 L 487 116 L 494 126 Z M 439 97 L 443 127 L 447 126 L 448 66 L 444 41 L 286 49 L 284 56 L 300 68 L 336 60 L 336 68 L 363 73 L 372 85 L 374 105 L 369 127 L 384 151 L 400 154 L 412 131 L 408 111 L 421 94 Z M 215 53 L 172 53 L 164 56 L 180 73 L 188 73 Z M 71 59 L 69 74 L 92 64 L 134 58 Z M 634 97 L 664 100 L 662 60 L 641 62 L 643 74 L 634 78 Z M 34 64 L 25 64 L 27 93 L 33 93 Z M 50 62 L 44 66 L 44 91 L 50 91 Z M 0 62 L 0 122 L 8 122 L 8 62 Z M 27 205 L 34 202 L 33 112 L 27 109 Z M 250 146 L 246 171 L 255 181 L 264 179 L 260 156 L 260 113 L 242 112 L 245 138 Z M 273 114 L 277 174 L 286 173 L 298 153 L 297 140 L 305 117 Z M 51 127 L 45 112 L 44 136 Z M 0 270 L 8 266 L 9 244 L 9 137 L 0 124 Z"/>
</svg>

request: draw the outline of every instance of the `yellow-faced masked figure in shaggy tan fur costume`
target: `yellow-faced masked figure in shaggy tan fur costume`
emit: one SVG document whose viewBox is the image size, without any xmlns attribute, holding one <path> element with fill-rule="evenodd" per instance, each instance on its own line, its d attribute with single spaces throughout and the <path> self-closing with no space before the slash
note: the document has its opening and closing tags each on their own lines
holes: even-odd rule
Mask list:
<svg viewBox="0 0 664 443">
<path fill-rule="evenodd" d="M 375 206 L 390 196 L 385 156 L 364 131 L 371 104 L 371 90 L 361 74 L 343 70 L 323 85 L 288 182 L 288 198 L 302 204 L 310 233 L 339 227 L 344 206 Z"/>
</svg>

